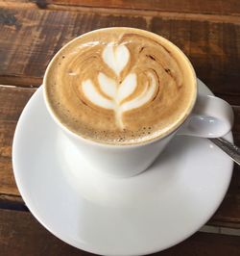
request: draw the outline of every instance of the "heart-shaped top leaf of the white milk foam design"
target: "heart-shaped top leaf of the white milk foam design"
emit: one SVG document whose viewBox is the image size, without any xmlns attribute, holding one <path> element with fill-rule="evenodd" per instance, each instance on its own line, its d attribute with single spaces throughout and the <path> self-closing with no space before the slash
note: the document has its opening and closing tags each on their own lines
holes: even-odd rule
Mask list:
<svg viewBox="0 0 240 256">
<path fill-rule="evenodd" d="M 114 46 L 109 43 L 103 51 L 103 59 L 115 74 L 119 76 L 130 60 L 130 51 L 125 45 Z"/>
</svg>

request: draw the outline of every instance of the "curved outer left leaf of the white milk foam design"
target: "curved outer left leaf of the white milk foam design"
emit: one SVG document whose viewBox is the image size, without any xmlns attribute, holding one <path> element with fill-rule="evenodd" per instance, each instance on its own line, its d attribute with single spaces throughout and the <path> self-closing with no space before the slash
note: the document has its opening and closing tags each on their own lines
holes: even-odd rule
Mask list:
<svg viewBox="0 0 240 256">
<path fill-rule="evenodd" d="M 95 86 L 92 84 L 90 79 L 87 79 L 82 84 L 85 97 L 90 100 L 93 104 L 105 108 L 114 109 L 114 102 L 102 96 Z"/>
</svg>

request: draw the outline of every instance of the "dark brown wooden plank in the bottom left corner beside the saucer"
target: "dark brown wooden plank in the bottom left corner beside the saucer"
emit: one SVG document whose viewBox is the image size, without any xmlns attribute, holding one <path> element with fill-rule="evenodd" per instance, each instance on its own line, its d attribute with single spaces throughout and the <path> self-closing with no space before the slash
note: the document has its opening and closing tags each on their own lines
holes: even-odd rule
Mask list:
<svg viewBox="0 0 240 256">
<path fill-rule="evenodd" d="M 93 255 L 61 242 L 30 213 L 0 210 L 0 255 Z"/>
</svg>

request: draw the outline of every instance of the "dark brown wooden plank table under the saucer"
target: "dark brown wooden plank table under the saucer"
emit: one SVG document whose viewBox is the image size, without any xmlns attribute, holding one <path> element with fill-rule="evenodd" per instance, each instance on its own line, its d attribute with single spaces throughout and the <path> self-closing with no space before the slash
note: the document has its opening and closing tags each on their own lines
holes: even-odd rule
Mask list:
<svg viewBox="0 0 240 256">
<path fill-rule="evenodd" d="M 23 107 L 60 47 L 108 26 L 149 30 L 176 43 L 197 75 L 234 110 L 240 144 L 239 0 L 0 1 L 0 255 L 91 255 L 61 242 L 31 215 L 12 174 L 12 137 Z M 204 167 L 204 166 L 203 166 Z M 240 255 L 240 168 L 204 228 L 155 255 Z M 210 226 L 210 227 L 209 227 Z M 227 233 L 231 235 L 227 235 Z M 235 235 L 234 235 L 235 234 Z"/>
</svg>

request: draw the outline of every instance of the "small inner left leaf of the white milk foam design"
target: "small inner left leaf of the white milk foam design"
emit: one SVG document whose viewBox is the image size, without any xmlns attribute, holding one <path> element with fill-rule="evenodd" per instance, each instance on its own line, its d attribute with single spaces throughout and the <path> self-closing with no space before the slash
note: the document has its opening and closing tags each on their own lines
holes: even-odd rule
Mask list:
<svg viewBox="0 0 240 256">
<path fill-rule="evenodd" d="M 113 79 L 100 72 L 98 75 L 98 83 L 101 90 L 103 90 L 106 95 L 110 98 L 115 98 L 117 93 L 117 83 Z"/>
</svg>

